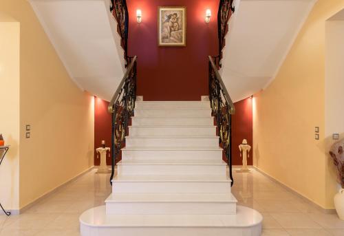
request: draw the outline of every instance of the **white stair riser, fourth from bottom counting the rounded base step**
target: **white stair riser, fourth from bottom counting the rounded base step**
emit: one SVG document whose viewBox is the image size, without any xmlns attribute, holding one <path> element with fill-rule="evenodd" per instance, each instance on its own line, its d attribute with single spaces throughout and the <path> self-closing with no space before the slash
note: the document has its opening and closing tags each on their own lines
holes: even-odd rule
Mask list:
<svg viewBox="0 0 344 236">
<path fill-rule="evenodd" d="M 118 164 L 119 175 L 219 175 L 226 165 L 197 164 Z"/>
</svg>

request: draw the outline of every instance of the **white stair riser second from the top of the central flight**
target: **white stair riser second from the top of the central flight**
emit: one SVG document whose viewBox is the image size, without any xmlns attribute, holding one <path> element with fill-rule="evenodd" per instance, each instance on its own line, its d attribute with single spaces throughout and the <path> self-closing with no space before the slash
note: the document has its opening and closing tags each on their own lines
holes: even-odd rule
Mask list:
<svg viewBox="0 0 344 236">
<path fill-rule="evenodd" d="M 211 109 L 202 110 L 140 110 L 135 109 L 135 117 L 146 117 L 146 118 L 211 118 Z"/>
</svg>

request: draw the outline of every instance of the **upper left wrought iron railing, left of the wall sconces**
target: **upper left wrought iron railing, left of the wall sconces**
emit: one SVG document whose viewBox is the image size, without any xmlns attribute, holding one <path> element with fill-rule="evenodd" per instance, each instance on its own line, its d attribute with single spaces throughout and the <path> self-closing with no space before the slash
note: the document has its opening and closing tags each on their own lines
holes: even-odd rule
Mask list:
<svg viewBox="0 0 344 236">
<path fill-rule="evenodd" d="M 127 1 L 125 0 L 111 0 L 110 11 L 114 15 L 117 21 L 117 32 L 120 34 L 120 44 L 125 50 L 126 67 L 129 65 L 128 58 L 128 28 L 129 28 L 129 16 Z"/>
</svg>

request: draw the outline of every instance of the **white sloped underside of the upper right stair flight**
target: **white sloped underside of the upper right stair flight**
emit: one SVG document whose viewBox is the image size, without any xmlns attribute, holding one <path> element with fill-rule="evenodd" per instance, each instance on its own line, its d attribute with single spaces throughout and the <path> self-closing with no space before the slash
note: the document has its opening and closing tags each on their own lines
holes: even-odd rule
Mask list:
<svg viewBox="0 0 344 236">
<path fill-rule="evenodd" d="M 264 89 L 276 76 L 314 0 L 237 0 L 221 74 L 233 101 Z"/>
</svg>

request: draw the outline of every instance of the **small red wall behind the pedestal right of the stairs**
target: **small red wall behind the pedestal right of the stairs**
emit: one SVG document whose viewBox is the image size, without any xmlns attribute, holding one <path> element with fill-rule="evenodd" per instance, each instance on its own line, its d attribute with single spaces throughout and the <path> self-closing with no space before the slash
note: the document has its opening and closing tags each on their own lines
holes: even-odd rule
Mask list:
<svg viewBox="0 0 344 236">
<path fill-rule="evenodd" d="M 252 98 L 241 100 L 235 105 L 235 115 L 232 116 L 232 164 L 241 165 L 242 158 L 240 158 L 239 144 L 246 138 L 248 144 L 252 147 Z M 253 147 L 252 147 L 253 148 Z M 248 164 L 253 163 L 253 150 L 250 151 L 250 158 Z"/>
</svg>

